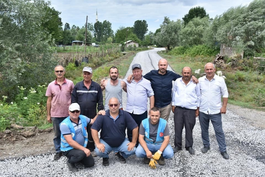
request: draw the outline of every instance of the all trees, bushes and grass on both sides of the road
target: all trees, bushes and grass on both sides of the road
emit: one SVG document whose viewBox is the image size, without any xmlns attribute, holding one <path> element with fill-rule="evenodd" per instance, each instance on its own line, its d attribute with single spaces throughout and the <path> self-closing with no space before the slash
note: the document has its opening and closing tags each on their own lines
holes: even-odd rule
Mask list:
<svg viewBox="0 0 265 177">
<path fill-rule="evenodd" d="M 214 19 L 204 7 L 193 7 L 182 20 L 164 17 L 156 32 L 148 34 L 145 20 L 135 21 L 133 27 L 121 26 L 115 34 L 106 20 L 83 27 L 65 23 L 63 28 L 60 12 L 50 5 L 44 0 L 0 2 L 0 131 L 12 123 L 51 126 L 46 121 L 45 92 L 55 79 L 57 64 L 65 66 L 65 76 L 74 83 L 82 80 L 82 68 L 90 66 L 92 79 L 99 82 L 112 65 L 123 77 L 132 60 L 126 56 L 147 46 L 165 47 L 167 53 L 161 56 L 178 73 L 183 66 L 201 69 L 196 77 L 203 76 L 204 64 L 215 59 L 222 44 L 244 52 L 243 58 L 224 57 L 225 67 L 217 71 L 226 77 L 229 103 L 265 110 L 265 0 L 231 7 Z M 73 40 L 85 38 L 87 45 L 99 46 L 71 46 Z M 126 47 L 131 40 L 134 45 Z M 124 57 L 124 53 L 129 54 Z M 83 57 L 89 57 L 89 62 L 81 63 Z M 76 60 L 81 66 L 76 66 Z"/>
</svg>

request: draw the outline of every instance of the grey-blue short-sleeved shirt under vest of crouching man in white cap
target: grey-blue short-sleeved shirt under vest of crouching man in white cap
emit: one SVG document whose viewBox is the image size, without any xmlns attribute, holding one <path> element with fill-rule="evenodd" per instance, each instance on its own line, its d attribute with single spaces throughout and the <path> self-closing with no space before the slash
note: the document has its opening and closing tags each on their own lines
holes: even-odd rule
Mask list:
<svg viewBox="0 0 265 177">
<path fill-rule="evenodd" d="M 85 118 L 86 118 L 87 124 L 89 124 L 91 120 L 88 117 L 85 117 Z M 75 129 L 75 141 L 79 145 L 83 146 L 84 145 L 84 136 L 82 133 L 82 122 L 81 122 L 80 118 L 78 118 L 78 124 L 73 122 L 71 119 L 70 119 L 70 121 L 72 122 L 72 125 L 74 126 L 74 129 Z M 60 125 L 60 130 L 61 130 L 61 134 L 63 136 L 64 135 L 71 135 L 71 131 L 70 131 L 69 127 L 65 124 Z"/>
</svg>

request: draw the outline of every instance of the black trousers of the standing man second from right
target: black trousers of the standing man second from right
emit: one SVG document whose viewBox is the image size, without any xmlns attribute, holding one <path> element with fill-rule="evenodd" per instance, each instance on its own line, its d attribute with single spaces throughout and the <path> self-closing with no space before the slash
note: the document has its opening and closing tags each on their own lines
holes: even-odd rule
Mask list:
<svg viewBox="0 0 265 177">
<path fill-rule="evenodd" d="M 193 145 L 192 131 L 196 123 L 195 110 L 183 109 L 175 107 L 174 110 L 174 125 L 175 125 L 175 140 L 174 145 L 182 146 L 182 130 L 185 126 L 185 148 Z"/>
</svg>

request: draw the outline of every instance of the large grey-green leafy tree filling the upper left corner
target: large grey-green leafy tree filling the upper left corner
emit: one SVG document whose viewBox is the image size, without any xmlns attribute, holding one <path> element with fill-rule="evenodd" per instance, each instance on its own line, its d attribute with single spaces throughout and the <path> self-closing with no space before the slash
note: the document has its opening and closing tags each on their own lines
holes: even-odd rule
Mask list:
<svg viewBox="0 0 265 177">
<path fill-rule="evenodd" d="M 49 5 L 43 0 L 0 2 L 0 95 L 12 99 L 17 86 L 36 88 L 54 77 L 57 60 L 40 25 Z"/>
</svg>

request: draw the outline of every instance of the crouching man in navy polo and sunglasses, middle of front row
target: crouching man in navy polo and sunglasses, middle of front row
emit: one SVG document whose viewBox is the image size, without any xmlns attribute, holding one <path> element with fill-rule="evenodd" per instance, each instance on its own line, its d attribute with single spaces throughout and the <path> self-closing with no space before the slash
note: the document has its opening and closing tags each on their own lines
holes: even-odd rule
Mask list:
<svg viewBox="0 0 265 177">
<path fill-rule="evenodd" d="M 91 134 L 96 144 L 95 152 L 103 158 L 102 164 L 108 166 L 108 154 L 118 152 L 121 163 L 126 163 L 126 158 L 135 154 L 135 145 L 138 136 L 138 125 L 126 111 L 120 110 L 117 98 L 112 97 L 108 102 L 109 110 L 105 116 L 99 116 L 91 126 Z M 126 138 L 125 130 L 132 131 L 132 142 Z M 98 132 L 100 131 L 100 139 Z"/>
</svg>

